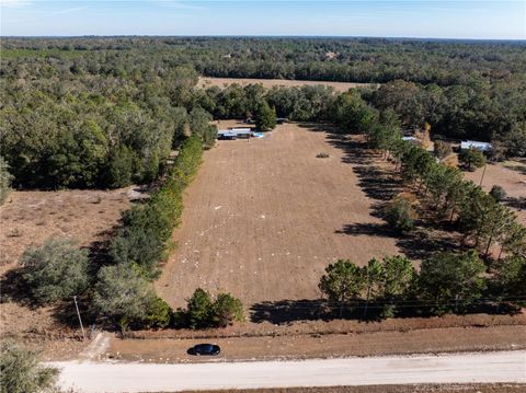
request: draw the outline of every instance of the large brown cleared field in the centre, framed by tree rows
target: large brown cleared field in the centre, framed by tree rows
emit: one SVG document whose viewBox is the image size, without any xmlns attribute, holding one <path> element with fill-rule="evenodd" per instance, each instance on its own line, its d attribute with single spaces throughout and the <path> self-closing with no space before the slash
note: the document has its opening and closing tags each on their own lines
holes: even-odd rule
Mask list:
<svg viewBox="0 0 526 393">
<path fill-rule="evenodd" d="M 313 299 L 329 263 L 398 253 L 396 239 L 342 231 L 380 222 L 343 158 L 328 134 L 296 124 L 263 139 L 218 141 L 185 195 L 159 294 L 172 307 L 197 287 L 229 291 L 245 305 Z"/>
</svg>

